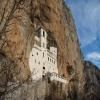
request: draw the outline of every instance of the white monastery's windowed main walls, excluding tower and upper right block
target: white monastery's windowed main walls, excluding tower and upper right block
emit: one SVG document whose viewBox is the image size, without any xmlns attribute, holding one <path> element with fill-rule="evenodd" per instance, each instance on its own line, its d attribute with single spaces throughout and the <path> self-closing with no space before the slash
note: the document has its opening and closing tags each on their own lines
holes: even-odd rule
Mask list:
<svg viewBox="0 0 100 100">
<path fill-rule="evenodd" d="M 55 72 L 57 69 L 57 58 L 53 54 L 42 50 L 41 47 L 34 45 L 29 57 L 29 66 L 32 73 L 33 80 L 39 79 L 43 74 L 43 67 L 45 67 L 45 73 Z"/>
</svg>

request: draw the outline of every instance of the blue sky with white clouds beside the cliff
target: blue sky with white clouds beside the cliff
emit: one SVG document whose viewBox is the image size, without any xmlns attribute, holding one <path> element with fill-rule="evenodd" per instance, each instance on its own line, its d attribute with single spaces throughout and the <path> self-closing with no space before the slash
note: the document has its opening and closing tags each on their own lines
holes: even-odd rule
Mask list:
<svg viewBox="0 0 100 100">
<path fill-rule="evenodd" d="M 100 68 L 100 0 L 65 0 L 74 17 L 84 59 Z"/>
</svg>

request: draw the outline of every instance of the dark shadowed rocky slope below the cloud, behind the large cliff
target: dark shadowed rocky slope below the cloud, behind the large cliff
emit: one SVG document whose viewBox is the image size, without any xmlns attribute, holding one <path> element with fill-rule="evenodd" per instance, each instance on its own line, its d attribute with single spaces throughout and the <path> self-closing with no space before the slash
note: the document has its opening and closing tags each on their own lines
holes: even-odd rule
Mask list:
<svg viewBox="0 0 100 100">
<path fill-rule="evenodd" d="M 84 100 L 100 100 L 100 69 L 89 61 L 84 62 Z"/>
</svg>

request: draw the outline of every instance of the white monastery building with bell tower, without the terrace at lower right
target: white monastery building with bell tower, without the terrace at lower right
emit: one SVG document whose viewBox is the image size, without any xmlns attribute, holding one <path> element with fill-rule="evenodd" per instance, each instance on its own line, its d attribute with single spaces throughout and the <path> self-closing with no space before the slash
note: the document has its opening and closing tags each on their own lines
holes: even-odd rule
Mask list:
<svg viewBox="0 0 100 100">
<path fill-rule="evenodd" d="M 57 48 L 50 47 L 50 51 L 48 51 L 46 31 L 41 29 L 40 36 L 40 39 L 35 36 L 35 40 L 40 41 L 41 45 L 39 46 L 37 44 L 34 44 L 34 47 L 32 48 L 29 56 L 29 66 L 33 80 L 38 80 L 39 78 L 42 78 L 42 75 L 47 72 L 58 73 Z"/>
</svg>

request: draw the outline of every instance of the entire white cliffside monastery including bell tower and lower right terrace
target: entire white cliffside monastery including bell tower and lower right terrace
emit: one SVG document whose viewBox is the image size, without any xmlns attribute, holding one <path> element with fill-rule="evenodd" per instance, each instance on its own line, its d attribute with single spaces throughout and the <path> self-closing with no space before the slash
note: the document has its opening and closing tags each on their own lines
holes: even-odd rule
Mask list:
<svg viewBox="0 0 100 100">
<path fill-rule="evenodd" d="M 48 33 L 40 28 L 35 35 L 34 46 L 29 56 L 29 67 L 32 80 L 39 80 L 47 73 L 50 73 L 51 81 L 66 83 L 66 80 L 58 74 L 57 68 L 57 47 L 49 45 Z"/>
</svg>

